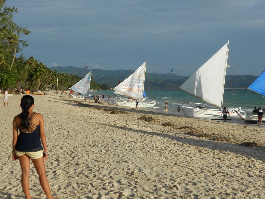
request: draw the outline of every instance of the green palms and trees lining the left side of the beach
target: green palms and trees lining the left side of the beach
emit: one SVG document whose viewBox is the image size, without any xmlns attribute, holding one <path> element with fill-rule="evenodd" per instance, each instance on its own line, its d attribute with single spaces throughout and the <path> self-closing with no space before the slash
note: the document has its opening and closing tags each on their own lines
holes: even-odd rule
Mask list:
<svg viewBox="0 0 265 199">
<path fill-rule="evenodd" d="M 20 85 L 23 90 L 67 90 L 82 77 L 67 73 L 52 71 L 45 64 L 33 58 L 25 58 L 23 54 L 16 57 L 27 41 L 21 40 L 22 35 L 28 35 L 27 27 L 20 27 L 13 21 L 17 13 L 14 6 L 8 7 L 6 0 L 0 0 L 0 88 L 16 89 Z M 91 89 L 108 89 L 105 84 L 97 84 L 91 79 Z"/>
</svg>

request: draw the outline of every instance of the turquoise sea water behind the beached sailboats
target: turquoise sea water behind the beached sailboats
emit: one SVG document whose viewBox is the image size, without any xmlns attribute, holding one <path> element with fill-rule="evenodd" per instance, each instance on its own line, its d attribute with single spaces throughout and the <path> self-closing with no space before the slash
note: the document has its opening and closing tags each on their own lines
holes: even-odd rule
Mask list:
<svg viewBox="0 0 265 199">
<path fill-rule="evenodd" d="M 111 103 L 115 103 L 113 99 L 118 97 L 112 90 L 99 90 L 90 91 L 90 95 L 99 94 L 105 95 L 105 101 L 108 101 L 108 96 L 111 96 Z M 169 112 L 174 114 L 177 111 L 177 106 L 185 102 L 205 103 L 201 99 L 194 97 L 180 89 L 154 89 L 145 90 L 146 95 L 149 97 L 147 100 L 155 100 L 156 105 L 154 108 L 145 108 L 146 110 L 161 112 L 164 110 L 165 100 L 169 102 Z M 233 95 L 237 93 L 237 95 Z M 173 106 L 172 106 L 173 105 Z M 223 106 L 228 110 L 241 107 L 246 112 L 251 112 L 254 106 L 265 108 L 265 98 L 257 93 L 247 89 L 224 89 Z"/>
</svg>

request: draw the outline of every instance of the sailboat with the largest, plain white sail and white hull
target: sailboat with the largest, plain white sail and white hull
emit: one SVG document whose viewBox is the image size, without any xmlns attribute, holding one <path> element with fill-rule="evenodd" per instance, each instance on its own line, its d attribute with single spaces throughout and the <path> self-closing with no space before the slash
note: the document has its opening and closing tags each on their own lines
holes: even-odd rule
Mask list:
<svg viewBox="0 0 265 199">
<path fill-rule="evenodd" d="M 228 43 L 229 41 L 179 87 L 207 102 L 184 102 L 180 106 L 184 116 L 209 119 L 213 116 L 221 116 L 226 68 L 229 67 L 227 65 Z M 231 112 L 230 116 L 234 113 Z M 237 114 L 235 116 L 238 117 Z"/>
</svg>

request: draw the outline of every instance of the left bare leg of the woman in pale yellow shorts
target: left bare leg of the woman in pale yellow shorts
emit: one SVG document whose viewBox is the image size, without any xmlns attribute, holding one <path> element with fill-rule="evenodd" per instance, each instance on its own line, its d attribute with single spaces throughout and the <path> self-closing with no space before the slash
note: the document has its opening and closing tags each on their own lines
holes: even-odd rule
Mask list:
<svg viewBox="0 0 265 199">
<path fill-rule="evenodd" d="M 32 199 L 29 194 L 29 166 L 30 158 L 27 155 L 17 156 L 21 166 L 21 185 L 26 199 Z"/>
</svg>

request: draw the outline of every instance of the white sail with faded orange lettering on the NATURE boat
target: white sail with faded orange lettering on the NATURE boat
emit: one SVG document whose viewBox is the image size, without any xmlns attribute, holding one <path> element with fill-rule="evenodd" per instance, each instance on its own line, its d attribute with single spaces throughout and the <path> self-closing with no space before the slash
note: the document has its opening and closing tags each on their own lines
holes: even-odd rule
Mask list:
<svg viewBox="0 0 265 199">
<path fill-rule="evenodd" d="M 122 83 L 116 86 L 113 90 L 134 99 L 139 98 L 140 101 L 143 101 L 145 70 L 146 61 L 133 74 L 127 77 L 127 79 L 122 81 Z"/>
</svg>

